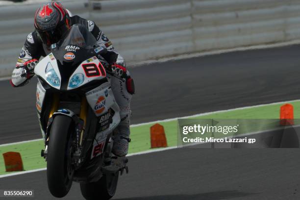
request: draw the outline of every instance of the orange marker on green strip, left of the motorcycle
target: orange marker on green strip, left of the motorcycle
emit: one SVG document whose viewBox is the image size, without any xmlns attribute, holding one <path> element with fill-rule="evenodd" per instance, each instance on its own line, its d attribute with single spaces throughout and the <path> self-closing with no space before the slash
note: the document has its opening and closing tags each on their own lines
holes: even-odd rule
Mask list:
<svg viewBox="0 0 300 200">
<path fill-rule="evenodd" d="M 19 152 L 3 153 L 6 172 L 24 171 L 22 158 Z"/>
</svg>

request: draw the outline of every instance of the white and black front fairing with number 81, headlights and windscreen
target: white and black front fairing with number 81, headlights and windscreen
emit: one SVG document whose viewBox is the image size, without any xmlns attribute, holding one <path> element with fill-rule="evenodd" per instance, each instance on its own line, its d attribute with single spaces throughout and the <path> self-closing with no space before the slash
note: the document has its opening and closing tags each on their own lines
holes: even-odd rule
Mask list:
<svg viewBox="0 0 300 200">
<path fill-rule="evenodd" d="M 85 27 L 73 25 L 62 40 L 51 45 L 52 52 L 36 66 L 36 75 L 58 90 L 73 90 L 104 78 L 105 70 L 95 56 L 96 43 Z"/>
</svg>

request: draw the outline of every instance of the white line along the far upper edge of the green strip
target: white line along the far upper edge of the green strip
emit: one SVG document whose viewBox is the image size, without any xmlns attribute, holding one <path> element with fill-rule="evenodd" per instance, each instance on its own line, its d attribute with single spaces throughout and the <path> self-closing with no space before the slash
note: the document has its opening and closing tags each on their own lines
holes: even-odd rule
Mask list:
<svg viewBox="0 0 300 200">
<path fill-rule="evenodd" d="M 137 127 L 137 126 L 141 126 L 141 125 L 150 125 L 150 124 L 161 123 L 161 122 L 170 122 L 170 121 L 174 121 L 174 120 L 181 119 L 181 118 L 200 117 L 200 116 L 217 114 L 217 113 L 222 113 L 222 112 L 243 110 L 243 109 L 248 109 L 248 108 L 257 108 L 257 107 L 262 107 L 262 106 L 266 106 L 266 105 L 276 105 L 276 104 L 283 104 L 283 103 L 295 102 L 295 101 L 299 101 L 299 100 L 287 100 L 287 101 L 274 102 L 274 103 L 268 103 L 268 104 L 260 104 L 260 105 L 233 108 L 233 109 L 228 109 L 228 110 L 219 110 L 219 111 L 214 111 L 214 112 L 206 112 L 206 113 L 200 113 L 200 114 L 190 115 L 190 116 L 185 116 L 185 117 L 176 117 L 176 118 L 171 118 L 171 119 L 157 120 L 157 121 L 153 121 L 153 122 L 146 122 L 146 123 L 141 123 L 141 124 L 136 124 L 136 125 L 130 125 L 130 127 Z M 0 145 L 0 147 L 5 147 L 5 146 L 9 146 L 9 145 L 16 145 L 16 144 L 22 144 L 22 143 L 33 142 L 33 141 L 40 141 L 40 140 L 43 140 L 43 139 L 34 139 L 34 140 L 26 140 L 26 141 L 22 141 L 22 142 L 8 143 L 8 144 Z"/>
</svg>

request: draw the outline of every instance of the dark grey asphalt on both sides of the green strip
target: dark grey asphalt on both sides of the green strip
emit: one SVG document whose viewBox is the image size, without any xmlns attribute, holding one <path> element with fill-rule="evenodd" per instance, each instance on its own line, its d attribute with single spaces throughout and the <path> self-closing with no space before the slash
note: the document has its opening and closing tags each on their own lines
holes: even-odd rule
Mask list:
<svg viewBox="0 0 300 200">
<path fill-rule="evenodd" d="M 299 52 L 299 46 L 250 50 L 131 69 L 137 88 L 132 122 L 300 99 Z M 38 137 L 34 83 L 7 87 L 0 82 L 1 142 Z M 129 157 L 129 174 L 120 178 L 114 199 L 299 200 L 299 165 L 299 149 L 191 148 L 136 155 Z M 0 189 L 34 189 L 34 199 L 54 199 L 45 171 L 1 178 Z M 63 200 L 82 200 L 78 184 Z"/>
</svg>

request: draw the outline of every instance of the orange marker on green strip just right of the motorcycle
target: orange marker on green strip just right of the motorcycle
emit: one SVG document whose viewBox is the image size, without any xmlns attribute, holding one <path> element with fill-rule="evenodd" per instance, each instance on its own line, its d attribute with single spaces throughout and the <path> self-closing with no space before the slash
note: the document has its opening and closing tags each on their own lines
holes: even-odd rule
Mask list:
<svg viewBox="0 0 300 200">
<path fill-rule="evenodd" d="M 167 147 L 164 126 L 155 124 L 150 127 L 151 148 Z"/>
</svg>

